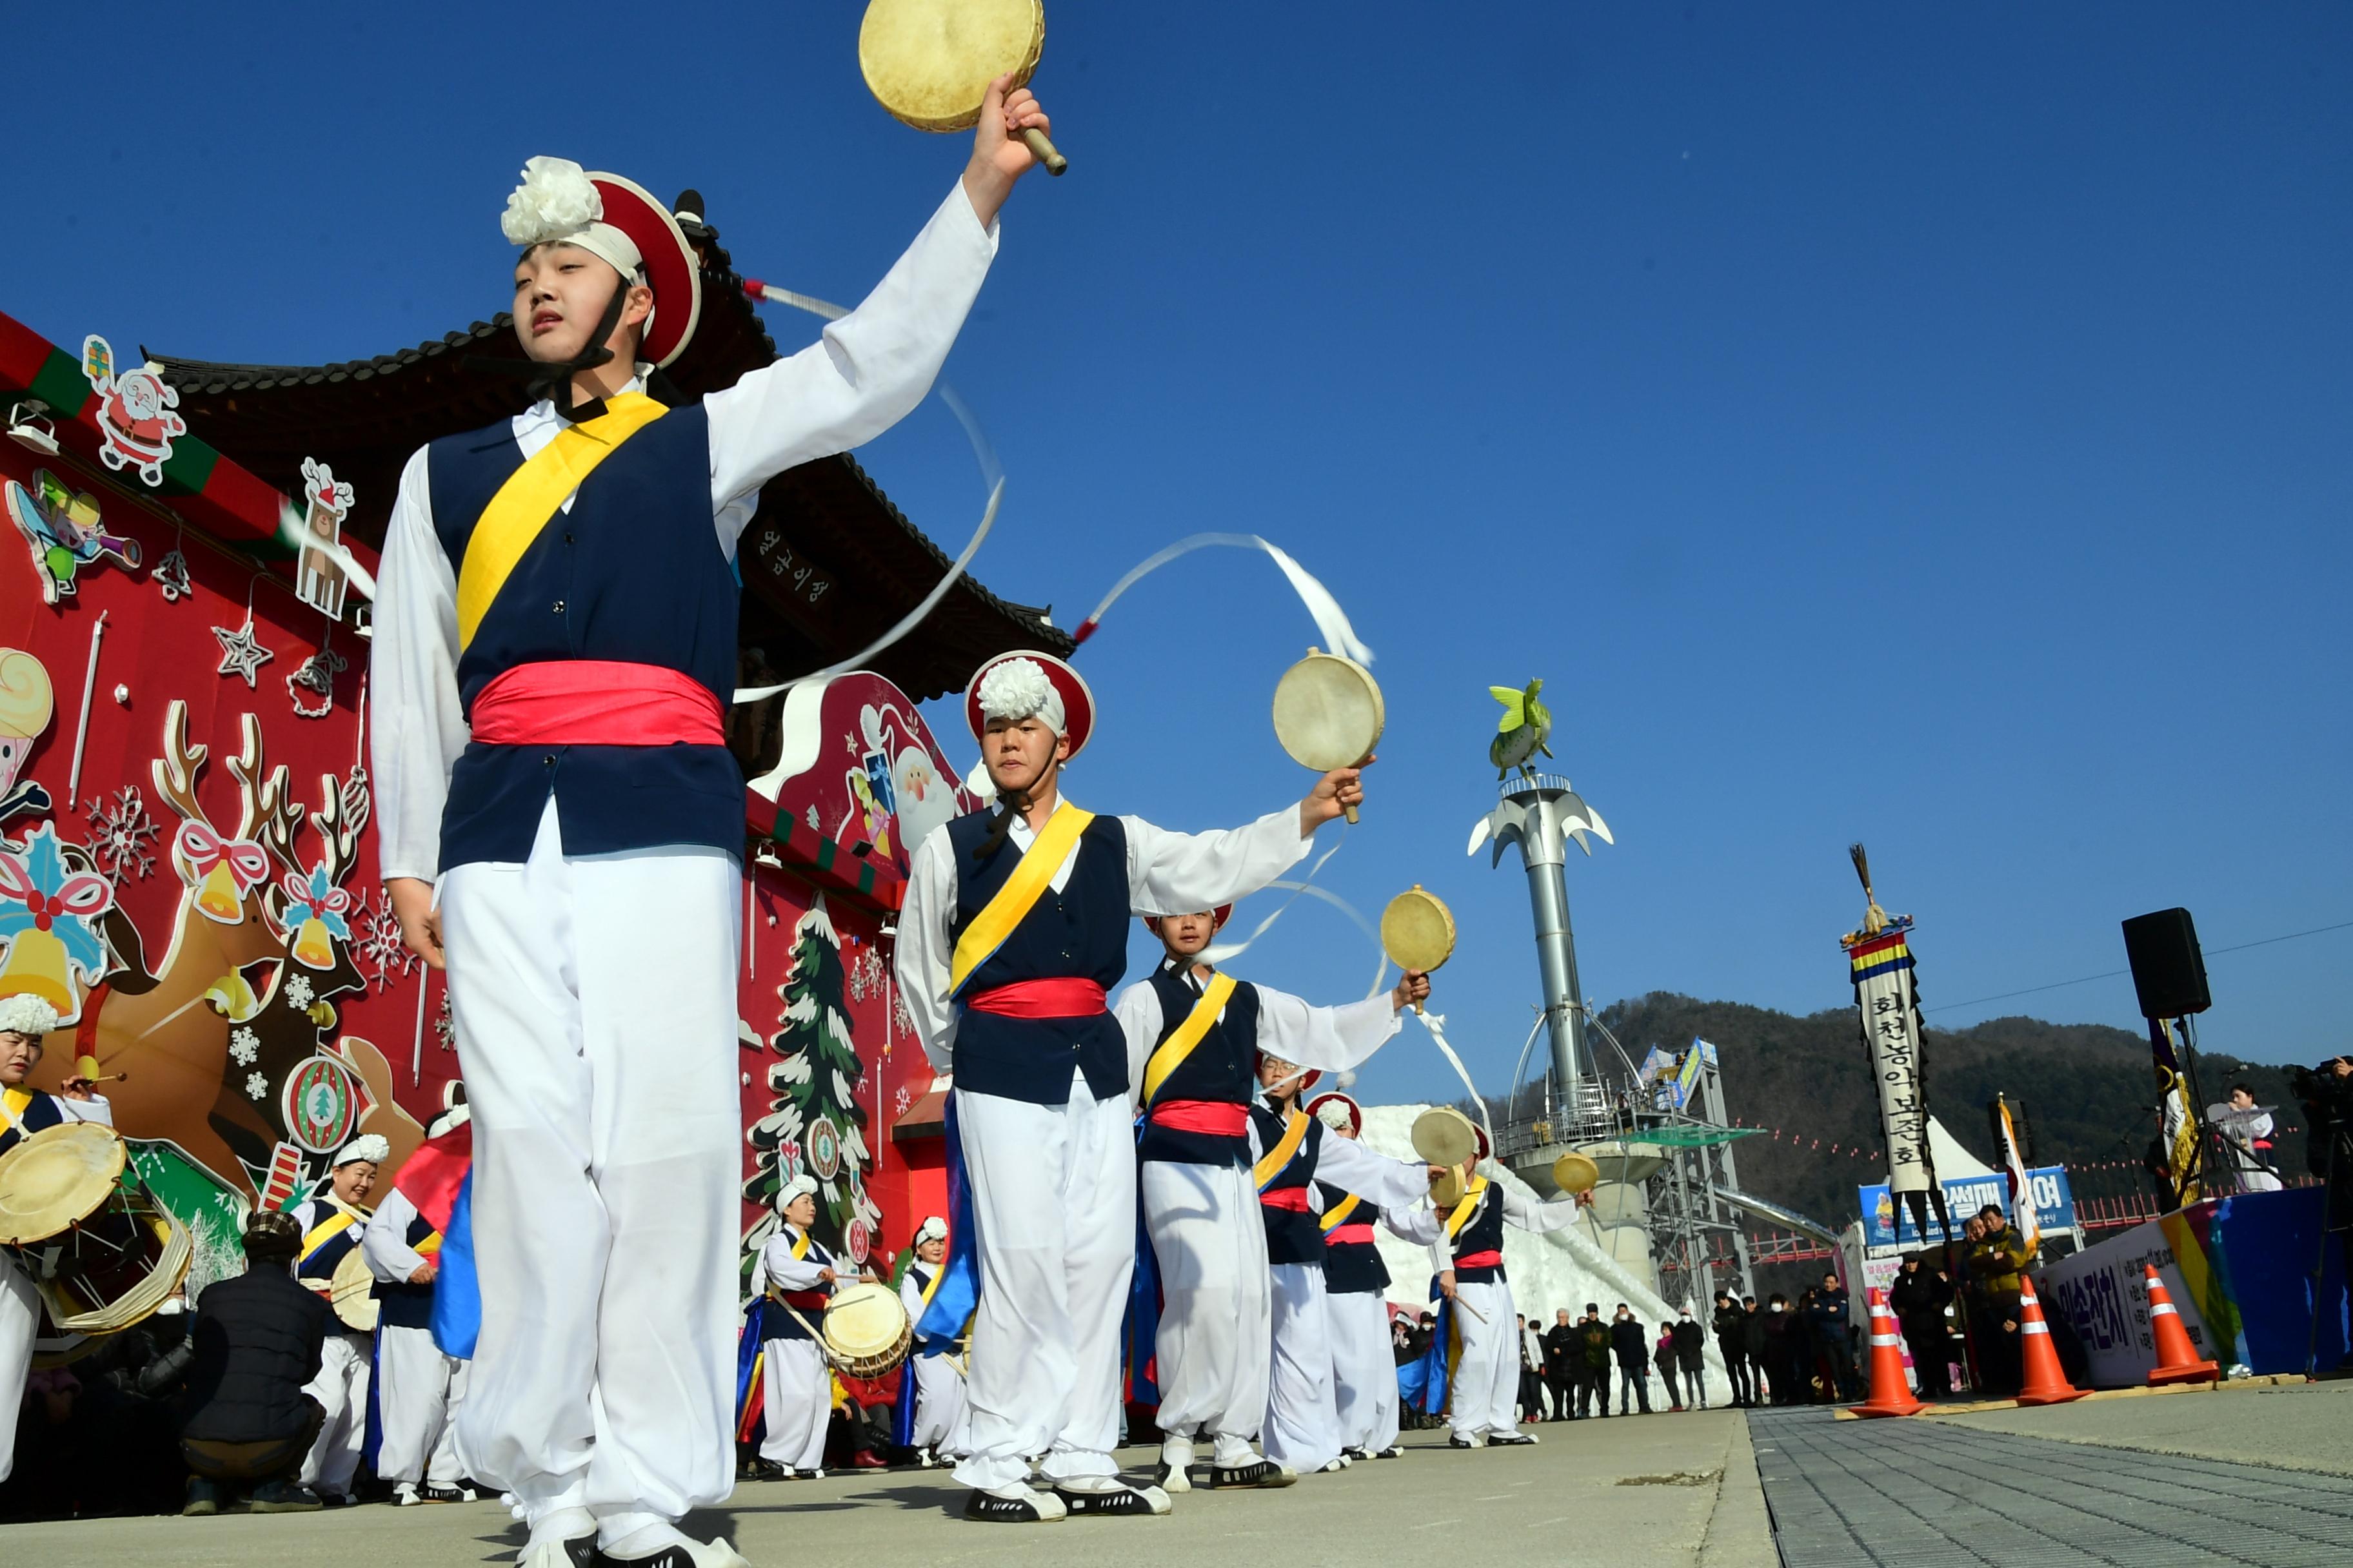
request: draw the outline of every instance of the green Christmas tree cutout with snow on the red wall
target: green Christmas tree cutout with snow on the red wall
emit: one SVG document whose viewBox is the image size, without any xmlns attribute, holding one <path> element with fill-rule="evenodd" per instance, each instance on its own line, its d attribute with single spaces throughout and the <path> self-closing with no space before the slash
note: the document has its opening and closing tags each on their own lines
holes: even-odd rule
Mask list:
<svg viewBox="0 0 2353 1568">
<path fill-rule="evenodd" d="M 784 1011 L 767 1046 L 781 1060 L 767 1070 L 774 1095 L 767 1114 L 751 1124 L 753 1175 L 744 1197 L 760 1204 L 760 1220 L 744 1234 L 744 1272 L 776 1234 L 776 1194 L 807 1171 L 816 1178 L 816 1239 L 852 1262 L 864 1262 L 882 1211 L 866 1197 L 866 1112 L 856 1088 L 866 1077 L 849 1030 L 845 999 L 847 966 L 842 938 L 826 912 L 824 893 L 793 926 L 793 969 L 776 997 Z"/>
</svg>

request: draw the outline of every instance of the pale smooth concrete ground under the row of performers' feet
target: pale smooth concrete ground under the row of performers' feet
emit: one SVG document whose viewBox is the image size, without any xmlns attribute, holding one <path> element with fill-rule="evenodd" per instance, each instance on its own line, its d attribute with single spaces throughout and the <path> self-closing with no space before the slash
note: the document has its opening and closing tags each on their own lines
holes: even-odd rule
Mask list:
<svg viewBox="0 0 2353 1568">
<path fill-rule="evenodd" d="M 1308 1476 L 1282 1493 L 1191 1493 L 1167 1519 L 972 1526 L 936 1472 L 744 1486 L 696 1516 L 760 1568 L 1019 1563 L 1021 1568 L 1202 1568 L 1228 1561 L 1344 1561 L 1348 1568 L 1774 1568 L 1748 1427 L 1737 1410 L 1548 1422 L 1537 1448 L 1454 1453 L 1407 1434 L 1402 1460 Z M 1122 1455 L 1134 1469 L 1155 1455 Z M 513 1561 L 506 1512 L 362 1507 L 334 1514 L 106 1519 L 0 1528 L 16 1568 L 475 1568 Z"/>
</svg>

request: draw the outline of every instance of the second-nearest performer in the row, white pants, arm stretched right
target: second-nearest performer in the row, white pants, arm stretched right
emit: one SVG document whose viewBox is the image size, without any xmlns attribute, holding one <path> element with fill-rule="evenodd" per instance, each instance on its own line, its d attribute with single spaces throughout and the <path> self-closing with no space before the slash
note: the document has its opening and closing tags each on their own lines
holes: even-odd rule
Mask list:
<svg viewBox="0 0 2353 1568">
<path fill-rule="evenodd" d="M 899 914 L 899 992 L 939 1072 L 955 1074 L 979 1302 L 967 1519 L 1162 1514 L 1129 1488 L 1120 1434 L 1120 1316 L 1134 1269 L 1136 1154 L 1127 1041 L 1106 992 L 1127 969 L 1129 914 L 1214 910 L 1299 863 L 1318 825 L 1362 797 L 1355 769 L 1247 827 L 1162 832 L 1061 799 L 1061 766 L 1094 726 L 1078 670 L 1005 654 L 974 675 L 965 717 L 1000 811 L 915 846 Z M 1031 1462 L 1049 1483 L 1031 1486 Z"/>
</svg>

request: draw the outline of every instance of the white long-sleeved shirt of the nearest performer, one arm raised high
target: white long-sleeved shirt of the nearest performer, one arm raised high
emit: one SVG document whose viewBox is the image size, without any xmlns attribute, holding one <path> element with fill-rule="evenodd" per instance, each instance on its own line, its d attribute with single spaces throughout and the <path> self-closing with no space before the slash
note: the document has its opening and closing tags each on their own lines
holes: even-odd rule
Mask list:
<svg viewBox="0 0 2353 1568">
<path fill-rule="evenodd" d="M 988 263 L 998 226 L 981 226 L 962 186 L 856 310 L 828 322 L 798 355 L 748 371 L 704 397 L 711 423 L 711 517 L 720 555 L 758 510 L 758 491 L 899 423 L 939 376 Z M 642 376 L 645 367 L 640 367 Z M 631 390 L 640 390 L 631 381 Z M 515 416 L 532 458 L 562 416 L 548 400 Z M 400 473 L 376 574 L 369 689 L 374 708 L 376 856 L 384 877 L 431 882 L 440 865 L 442 799 L 468 729 L 456 689 L 456 571 L 433 531 L 433 487 L 419 449 Z M 572 510 L 565 496 L 562 510 Z"/>
</svg>

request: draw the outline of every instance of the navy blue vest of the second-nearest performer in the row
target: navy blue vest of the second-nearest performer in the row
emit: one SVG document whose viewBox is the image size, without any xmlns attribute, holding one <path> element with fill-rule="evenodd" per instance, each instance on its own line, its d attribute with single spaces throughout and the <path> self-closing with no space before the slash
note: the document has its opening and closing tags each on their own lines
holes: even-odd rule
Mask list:
<svg viewBox="0 0 2353 1568">
<path fill-rule="evenodd" d="M 988 832 L 986 811 L 955 818 L 946 832 L 955 856 L 953 943 L 1014 875 L 1021 851 L 1005 839 L 986 863 L 974 858 Z M 1068 886 L 1038 896 L 1005 945 L 972 971 L 962 994 L 1061 976 L 1094 980 L 1108 994 L 1127 973 L 1127 827 L 1115 816 L 1099 816 L 1078 835 Z M 1073 1070 L 1087 1074 L 1096 1100 L 1127 1093 L 1127 1037 L 1108 1011 L 1092 1018 L 1005 1018 L 965 1009 L 955 1023 L 958 1088 L 1066 1105 Z"/>
</svg>

